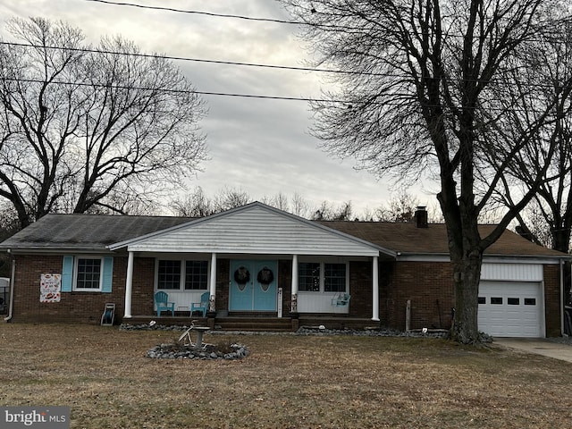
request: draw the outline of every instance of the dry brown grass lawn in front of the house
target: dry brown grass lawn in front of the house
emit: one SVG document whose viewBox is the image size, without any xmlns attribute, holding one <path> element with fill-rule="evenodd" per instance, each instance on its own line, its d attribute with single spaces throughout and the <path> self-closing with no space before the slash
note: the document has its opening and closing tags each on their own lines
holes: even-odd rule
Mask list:
<svg viewBox="0 0 572 429">
<path fill-rule="evenodd" d="M 145 357 L 180 332 L 0 324 L 0 403 L 71 407 L 72 428 L 558 428 L 572 365 L 448 341 L 211 336 L 240 361 Z"/>
</svg>

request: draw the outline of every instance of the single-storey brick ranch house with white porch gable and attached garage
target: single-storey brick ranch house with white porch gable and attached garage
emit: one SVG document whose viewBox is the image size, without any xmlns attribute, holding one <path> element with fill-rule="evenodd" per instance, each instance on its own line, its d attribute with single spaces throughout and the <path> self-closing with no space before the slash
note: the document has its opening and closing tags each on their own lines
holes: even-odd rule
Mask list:
<svg viewBox="0 0 572 429">
<path fill-rule="evenodd" d="M 13 257 L 6 320 L 99 324 L 113 303 L 115 323 L 148 323 L 163 290 L 165 324 L 189 324 L 204 295 L 192 317 L 213 328 L 448 329 L 447 243 L 424 210 L 415 223 L 314 222 L 258 202 L 199 219 L 48 214 L 0 243 Z M 485 252 L 481 331 L 559 336 L 567 259 L 506 231 Z"/>
</svg>

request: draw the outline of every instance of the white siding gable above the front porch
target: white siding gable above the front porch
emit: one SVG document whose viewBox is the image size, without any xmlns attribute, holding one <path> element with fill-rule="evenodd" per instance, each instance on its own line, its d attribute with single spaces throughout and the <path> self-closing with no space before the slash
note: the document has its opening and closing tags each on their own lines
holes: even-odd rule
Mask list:
<svg viewBox="0 0 572 429">
<path fill-rule="evenodd" d="M 112 248 L 140 252 L 378 256 L 380 248 L 340 231 L 253 203 Z"/>
</svg>

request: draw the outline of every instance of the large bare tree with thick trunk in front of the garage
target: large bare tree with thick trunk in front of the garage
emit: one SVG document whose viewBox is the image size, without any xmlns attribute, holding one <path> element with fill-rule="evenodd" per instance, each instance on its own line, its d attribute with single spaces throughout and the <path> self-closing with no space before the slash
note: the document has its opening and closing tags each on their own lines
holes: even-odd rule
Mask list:
<svg viewBox="0 0 572 429">
<path fill-rule="evenodd" d="M 335 68 L 339 93 L 316 101 L 314 135 L 333 155 L 356 157 L 379 176 L 437 172 L 437 199 L 450 242 L 456 315 L 451 338 L 480 341 L 477 297 L 484 249 L 534 197 L 545 166 L 481 237 L 480 212 L 503 185 L 509 163 L 543 131 L 552 105 L 518 127 L 491 90 L 501 76 L 522 82 L 528 48 L 551 27 L 551 0 L 282 0 L 303 22 L 317 65 Z M 494 94 L 497 94 L 495 91 Z M 514 92 L 513 92 L 514 93 Z M 529 103 L 515 97 L 513 111 Z M 490 112 L 496 115 L 491 117 Z M 505 130 L 505 132 L 498 132 Z M 509 131 L 509 132 L 508 132 Z M 498 150 L 501 148 L 502 150 Z M 547 147 L 551 158 L 553 146 Z M 484 156 L 484 153 L 496 153 Z M 478 172 L 486 163 L 486 181 Z M 515 186 L 515 184 L 511 184 Z"/>
</svg>

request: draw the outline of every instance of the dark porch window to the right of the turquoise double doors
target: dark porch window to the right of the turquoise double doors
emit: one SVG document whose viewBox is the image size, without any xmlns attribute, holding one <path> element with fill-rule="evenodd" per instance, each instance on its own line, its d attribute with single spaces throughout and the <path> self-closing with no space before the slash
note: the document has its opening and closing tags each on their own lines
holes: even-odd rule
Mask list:
<svg viewBox="0 0 572 429">
<path fill-rule="evenodd" d="M 347 292 L 347 263 L 300 262 L 298 290 L 301 292 Z"/>
</svg>

